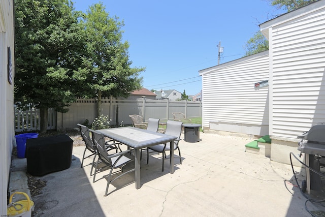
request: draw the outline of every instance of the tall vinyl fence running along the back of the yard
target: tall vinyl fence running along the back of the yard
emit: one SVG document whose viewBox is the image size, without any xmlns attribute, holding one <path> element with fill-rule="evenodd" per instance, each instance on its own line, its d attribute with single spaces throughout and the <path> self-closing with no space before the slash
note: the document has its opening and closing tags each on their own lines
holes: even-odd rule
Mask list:
<svg viewBox="0 0 325 217">
<path fill-rule="evenodd" d="M 96 99 L 77 98 L 69 107 L 67 113 L 59 113 L 49 109 L 48 130 L 68 130 L 77 127 L 77 123 L 86 120 L 91 123 L 97 116 Z M 111 119 L 111 126 L 131 125 L 128 115 L 141 115 L 144 121 L 149 117 L 163 120 L 173 119 L 173 112 L 182 112 L 186 117 L 201 117 L 202 103 L 192 101 L 150 100 L 145 97 L 139 99 L 125 99 L 107 97 L 102 99 L 102 114 Z M 15 131 L 40 130 L 39 111 L 15 111 Z"/>
</svg>

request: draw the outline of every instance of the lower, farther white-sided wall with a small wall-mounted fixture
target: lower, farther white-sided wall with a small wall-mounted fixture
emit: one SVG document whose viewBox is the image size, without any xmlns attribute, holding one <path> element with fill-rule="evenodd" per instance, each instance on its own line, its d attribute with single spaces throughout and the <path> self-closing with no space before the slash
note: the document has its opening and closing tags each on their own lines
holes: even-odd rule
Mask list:
<svg viewBox="0 0 325 217">
<path fill-rule="evenodd" d="M 266 135 L 269 125 L 268 51 L 200 71 L 203 127 L 251 135 Z"/>
</svg>

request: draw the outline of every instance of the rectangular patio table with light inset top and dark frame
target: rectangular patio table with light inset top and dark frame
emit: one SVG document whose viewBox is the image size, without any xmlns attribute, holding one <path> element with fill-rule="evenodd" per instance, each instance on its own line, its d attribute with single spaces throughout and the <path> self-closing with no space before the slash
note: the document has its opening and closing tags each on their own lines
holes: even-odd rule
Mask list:
<svg viewBox="0 0 325 217">
<path fill-rule="evenodd" d="M 111 128 L 98 130 L 104 136 L 111 138 L 117 142 L 123 143 L 135 149 L 135 169 L 136 169 L 136 189 L 140 189 L 140 149 L 150 147 L 157 144 L 165 144 L 170 142 L 171 146 L 175 136 L 161 133 L 155 133 L 134 127 Z M 174 149 L 170 151 L 170 173 L 174 173 Z"/>
</svg>

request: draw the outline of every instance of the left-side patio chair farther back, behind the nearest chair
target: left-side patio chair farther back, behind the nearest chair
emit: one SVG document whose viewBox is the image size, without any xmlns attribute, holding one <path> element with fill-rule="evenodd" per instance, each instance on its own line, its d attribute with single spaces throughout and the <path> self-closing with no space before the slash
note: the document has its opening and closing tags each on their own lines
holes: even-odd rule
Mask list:
<svg viewBox="0 0 325 217">
<path fill-rule="evenodd" d="M 85 142 L 85 145 L 86 145 L 85 150 L 83 152 L 83 156 L 82 156 L 81 167 L 83 165 L 84 159 L 89 158 L 91 156 L 94 156 L 93 159 L 92 159 L 91 170 L 90 170 L 90 176 L 91 176 L 92 175 L 92 169 L 93 169 L 93 166 L 94 166 L 94 161 L 95 161 L 96 156 L 98 155 L 98 151 L 97 151 L 96 146 L 94 146 L 94 144 L 92 143 L 92 140 L 90 138 L 89 128 L 87 128 L 84 125 L 81 125 L 80 123 L 78 123 L 78 126 L 79 126 L 79 129 L 80 129 L 81 138 Z M 118 145 L 118 147 L 116 145 Z M 105 141 L 105 148 L 106 148 L 107 151 L 114 150 L 114 149 L 116 150 L 116 153 L 117 153 L 118 149 L 120 149 L 120 151 L 122 151 L 121 148 L 119 147 L 119 145 L 120 145 L 120 143 L 116 143 L 116 142 L 114 142 L 112 140 Z M 91 152 L 91 154 L 89 156 L 85 157 L 86 150 L 89 150 Z"/>
</svg>

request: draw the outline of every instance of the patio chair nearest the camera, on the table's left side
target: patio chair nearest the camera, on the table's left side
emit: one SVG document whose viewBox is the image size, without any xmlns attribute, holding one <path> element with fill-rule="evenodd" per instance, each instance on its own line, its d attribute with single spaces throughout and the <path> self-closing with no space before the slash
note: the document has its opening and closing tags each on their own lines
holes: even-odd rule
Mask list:
<svg viewBox="0 0 325 217">
<path fill-rule="evenodd" d="M 97 163 L 95 166 L 93 181 L 95 180 L 96 173 L 102 169 L 102 168 L 98 168 L 98 165 L 100 163 L 104 163 L 106 166 L 111 168 L 110 173 L 108 175 L 107 187 L 106 187 L 106 191 L 105 191 L 105 197 L 106 197 L 107 192 L 108 192 L 108 187 L 112 181 L 115 181 L 116 179 L 120 178 L 121 176 L 136 170 L 134 168 L 134 169 L 128 170 L 127 172 L 123 172 L 123 166 L 125 166 L 126 164 L 128 164 L 130 162 L 133 162 L 134 159 L 129 159 L 125 156 L 131 150 L 125 150 L 122 152 L 109 154 L 107 152 L 107 150 L 105 149 L 105 136 L 103 134 L 100 134 L 100 133 L 94 131 L 94 130 L 90 130 L 90 132 L 92 134 L 92 141 L 96 145 L 96 147 L 98 149 L 98 153 L 99 153 L 99 159 L 97 160 Z M 111 180 L 113 169 L 116 169 L 116 168 L 121 168 L 122 174 L 118 175 L 117 177 L 115 177 L 114 179 Z"/>
</svg>

